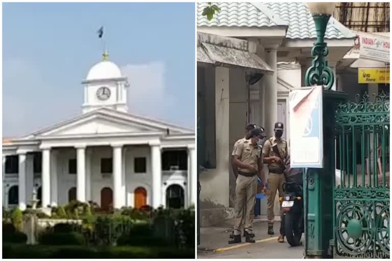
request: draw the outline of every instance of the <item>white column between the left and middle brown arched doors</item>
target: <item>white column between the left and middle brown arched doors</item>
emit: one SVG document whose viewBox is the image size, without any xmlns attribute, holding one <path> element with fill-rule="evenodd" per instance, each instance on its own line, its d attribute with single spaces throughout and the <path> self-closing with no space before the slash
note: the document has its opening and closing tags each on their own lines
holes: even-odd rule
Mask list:
<svg viewBox="0 0 392 261">
<path fill-rule="evenodd" d="M 86 202 L 86 146 L 76 147 L 76 198 Z"/>
</svg>

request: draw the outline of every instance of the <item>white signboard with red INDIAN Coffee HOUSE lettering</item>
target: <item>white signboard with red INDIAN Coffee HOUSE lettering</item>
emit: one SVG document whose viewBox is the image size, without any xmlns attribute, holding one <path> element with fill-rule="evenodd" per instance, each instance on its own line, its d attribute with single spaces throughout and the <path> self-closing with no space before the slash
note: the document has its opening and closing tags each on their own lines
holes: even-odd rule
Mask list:
<svg viewBox="0 0 392 261">
<path fill-rule="evenodd" d="M 389 37 L 369 33 L 354 32 L 354 53 L 359 51 L 359 58 L 389 63 Z"/>
</svg>

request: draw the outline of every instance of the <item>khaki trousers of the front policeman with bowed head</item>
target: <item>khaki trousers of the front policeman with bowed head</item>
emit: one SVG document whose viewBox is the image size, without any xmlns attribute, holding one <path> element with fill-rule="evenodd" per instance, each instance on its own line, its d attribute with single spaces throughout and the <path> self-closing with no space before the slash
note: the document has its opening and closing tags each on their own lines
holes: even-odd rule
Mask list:
<svg viewBox="0 0 392 261">
<path fill-rule="evenodd" d="M 240 227 L 252 232 L 252 224 L 254 218 L 254 208 L 256 203 L 257 192 L 257 175 L 247 177 L 238 175 L 235 186 L 235 235 L 241 234 Z"/>
</svg>

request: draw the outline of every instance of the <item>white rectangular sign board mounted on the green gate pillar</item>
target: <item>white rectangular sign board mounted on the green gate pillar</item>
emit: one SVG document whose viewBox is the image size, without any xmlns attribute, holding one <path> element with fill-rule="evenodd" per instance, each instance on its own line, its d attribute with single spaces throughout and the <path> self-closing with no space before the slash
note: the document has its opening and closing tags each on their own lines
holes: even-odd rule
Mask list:
<svg viewBox="0 0 392 261">
<path fill-rule="evenodd" d="M 289 94 L 290 167 L 323 168 L 323 87 Z"/>
</svg>

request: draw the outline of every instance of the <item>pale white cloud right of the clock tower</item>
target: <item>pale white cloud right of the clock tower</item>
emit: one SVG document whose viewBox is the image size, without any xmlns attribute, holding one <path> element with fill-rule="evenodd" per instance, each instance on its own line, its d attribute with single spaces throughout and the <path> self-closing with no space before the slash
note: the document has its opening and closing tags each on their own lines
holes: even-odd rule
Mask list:
<svg viewBox="0 0 392 261">
<path fill-rule="evenodd" d="M 121 68 L 128 77 L 128 107 L 131 114 L 169 120 L 174 96 L 165 88 L 165 64 L 128 64 Z"/>
</svg>

